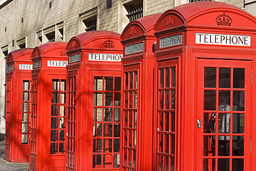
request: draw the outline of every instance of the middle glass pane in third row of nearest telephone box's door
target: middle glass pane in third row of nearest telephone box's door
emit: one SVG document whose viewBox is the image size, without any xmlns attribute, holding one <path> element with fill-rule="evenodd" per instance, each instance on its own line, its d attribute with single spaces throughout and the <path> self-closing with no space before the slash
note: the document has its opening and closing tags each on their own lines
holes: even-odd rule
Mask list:
<svg viewBox="0 0 256 171">
<path fill-rule="evenodd" d="M 230 130 L 230 114 L 219 113 L 219 133 L 229 133 Z"/>
</svg>

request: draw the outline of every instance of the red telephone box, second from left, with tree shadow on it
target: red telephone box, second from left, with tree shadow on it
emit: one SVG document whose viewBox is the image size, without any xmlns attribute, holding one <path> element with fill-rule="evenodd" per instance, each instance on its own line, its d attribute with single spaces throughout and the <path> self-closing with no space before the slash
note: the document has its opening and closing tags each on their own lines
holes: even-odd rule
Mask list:
<svg viewBox="0 0 256 171">
<path fill-rule="evenodd" d="M 29 170 L 64 170 L 66 138 L 65 42 L 34 48 L 31 88 L 31 139 Z"/>
</svg>

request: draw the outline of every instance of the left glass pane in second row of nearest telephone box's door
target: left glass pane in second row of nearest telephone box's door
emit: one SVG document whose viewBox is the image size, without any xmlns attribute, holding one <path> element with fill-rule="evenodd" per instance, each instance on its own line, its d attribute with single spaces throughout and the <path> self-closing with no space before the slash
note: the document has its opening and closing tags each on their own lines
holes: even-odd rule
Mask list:
<svg viewBox="0 0 256 171">
<path fill-rule="evenodd" d="M 204 90 L 204 110 L 216 110 L 216 90 Z"/>
</svg>

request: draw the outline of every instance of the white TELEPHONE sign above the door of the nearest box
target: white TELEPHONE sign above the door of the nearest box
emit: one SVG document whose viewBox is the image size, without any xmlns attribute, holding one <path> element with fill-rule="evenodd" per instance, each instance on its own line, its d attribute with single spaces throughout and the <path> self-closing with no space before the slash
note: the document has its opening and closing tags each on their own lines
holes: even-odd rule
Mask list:
<svg viewBox="0 0 256 171">
<path fill-rule="evenodd" d="M 229 46 L 250 46 L 250 36 L 196 33 L 196 43 Z"/>
</svg>

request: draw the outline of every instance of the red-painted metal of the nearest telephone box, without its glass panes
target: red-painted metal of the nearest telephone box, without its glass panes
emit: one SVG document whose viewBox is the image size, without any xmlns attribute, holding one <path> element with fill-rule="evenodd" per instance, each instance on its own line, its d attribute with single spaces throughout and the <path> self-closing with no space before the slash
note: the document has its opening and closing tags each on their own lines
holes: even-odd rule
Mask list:
<svg viewBox="0 0 256 171">
<path fill-rule="evenodd" d="M 235 137 L 244 136 L 244 143 L 240 143 L 244 151 L 243 154 L 238 156 L 232 155 L 235 154 L 235 145 L 228 141 L 226 143 L 229 143 L 230 146 L 226 148 L 230 151 L 230 154 L 223 157 L 217 149 L 214 150 L 215 154 L 210 155 L 209 147 L 211 144 L 216 143 L 216 145 L 219 145 L 219 149 L 222 148 L 220 142 L 222 137 L 219 132 L 209 132 L 210 130 L 208 130 L 210 121 L 207 118 L 209 116 L 206 115 L 208 110 L 205 110 L 207 105 L 205 94 L 210 90 L 219 93 L 225 88 L 208 88 L 204 84 L 208 74 L 207 70 L 210 70 L 211 67 L 215 68 L 217 75 L 225 68 L 230 70 L 231 81 L 226 80 L 230 82 L 230 85 L 239 80 L 232 78 L 232 73 L 237 73 L 236 70 L 244 70 L 244 72 L 238 72 L 239 77 L 243 75 L 244 77 L 250 77 L 250 72 L 255 70 L 256 37 L 253 29 L 255 24 L 255 17 L 244 10 L 217 1 L 199 1 L 184 4 L 167 10 L 156 22 L 154 28 L 154 34 L 157 37 L 156 81 L 158 83 L 156 83 L 154 89 L 156 97 L 161 97 L 161 90 L 165 90 L 161 87 L 161 76 L 165 77 L 165 74 L 162 74 L 162 69 L 166 70 L 166 68 L 176 66 L 175 145 L 172 149 L 173 152 L 170 152 L 170 150 L 166 152 L 174 155 L 174 162 L 168 160 L 169 170 L 171 168 L 171 170 L 177 171 L 217 170 L 217 168 L 235 170 L 238 167 L 241 167 L 239 169 L 252 170 L 252 165 L 255 167 L 252 162 L 255 159 L 255 154 L 252 153 L 255 149 L 255 131 L 252 125 L 255 121 L 255 117 L 253 117 L 255 107 L 250 105 L 251 101 L 254 100 L 254 95 L 251 96 L 250 94 L 255 93 L 253 78 L 246 78 L 244 82 L 246 88 L 241 87 L 240 89 L 245 94 L 244 98 L 247 101 L 244 104 L 245 109 L 243 108 L 243 112 L 240 112 L 240 114 L 246 113 L 247 116 L 241 120 L 244 123 L 241 122 L 239 125 L 244 129 L 244 132 L 240 132 L 240 134 L 226 132 L 225 134 L 230 136 L 233 141 L 236 141 Z M 218 78 L 216 79 L 217 86 L 221 80 L 221 77 Z M 251 83 L 248 79 L 252 80 Z M 231 86 L 225 90 L 235 92 L 237 89 L 233 89 Z M 235 97 L 235 94 L 231 96 Z M 218 94 L 217 97 L 221 97 L 221 94 Z M 221 100 L 217 97 L 215 98 L 216 106 L 220 108 Z M 154 105 L 156 106 L 156 112 L 158 112 L 156 114 L 161 112 L 160 102 L 161 99 L 158 99 Z M 235 104 L 235 101 L 230 97 L 229 103 Z M 235 107 L 237 108 L 237 106 Z M 238 113 L 235 107 L 229 112 L 233 119 L 235 114 Z M 212 113 L 223 114 L 223 112 L 219 112 L 218 108 L 212 110 Z M 234 126 L 232 130 L 237 129 L 235 128 L 235 121 L 230 121 L 230 124 Z M 212 140 L 213 143 L 209 143 L 210 140 L 207 140 L 209 137 L 219 137 L 219 141 L 217 138 L 212 138 L 214 139 L 214 141 Z M 161 147 L 161 144 L 168 142 L 165 139 L 161 141 L 159 137 L 156 139 L 157 143 L 160 145 L 157 146 L 158 154 L 160 154 L 162 149 L 166 150 L 165 147 Z M 208 147 L 205 146 L 207 144 Z M 235 166 L 236 163 L 239 163 L 237 159 L 239 159 L 240 164 Z M 228 160 L 228 162 L 225 160 Z M 162 162 L 163 159 L 159 157 L 158 161 Z M 156 170 L 164 169 L 163 165 L 166 163 L 161 165 L 161 162 L 156 164 Z M 221 165 L 222 163 L 225 164 Z"/>
</svg>

